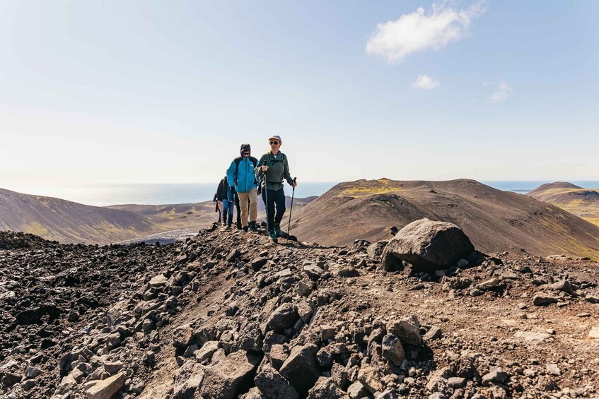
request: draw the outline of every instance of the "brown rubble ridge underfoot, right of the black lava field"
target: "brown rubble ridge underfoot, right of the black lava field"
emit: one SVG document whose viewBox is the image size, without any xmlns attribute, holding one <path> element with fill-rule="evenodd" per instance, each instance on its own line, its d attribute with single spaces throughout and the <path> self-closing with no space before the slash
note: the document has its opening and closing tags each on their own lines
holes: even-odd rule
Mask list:
<svg viewBox="0 0 599 399">
<path fill-rule="evenodd" d="M 173 246 L 143 289 L 88 319 L 86 338 L 62 356 L 55 397 L 595 393 L 597 371 L 585 367 L 598 364 L 593 328 L 562 337 L 527 323 L 571 308 L 596 316 L 596 263 L 497 254 L 473 268 L 460 259 L 434 272 L 407 264 L 390 272 L 380 262 L 386 244 L 274 246 L 255 234 L 202 231 Z M 501 309 L 511 324 L 484 330 L 465 309 Z M 480 329 L 465 331 L 465 322 Z M 25 397 L 35 379 L 13 384 L 10 397 Z"/>
</svg>

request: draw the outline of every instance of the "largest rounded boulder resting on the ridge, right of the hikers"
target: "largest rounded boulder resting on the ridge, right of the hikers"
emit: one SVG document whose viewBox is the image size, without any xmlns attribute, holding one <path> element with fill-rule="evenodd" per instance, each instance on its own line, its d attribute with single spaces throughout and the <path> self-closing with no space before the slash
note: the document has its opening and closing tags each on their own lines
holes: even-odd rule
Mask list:
<svg viewBox="0 0 599 399">
<path fill-rule="evenodd" d="M 400 259 L 416 270 L 443 270 L 473 251 L 475 247 L 460 227 L 424 218 L 395 234 L 383 252 L 383 267 L 392 270 Z"/>
</svg>

